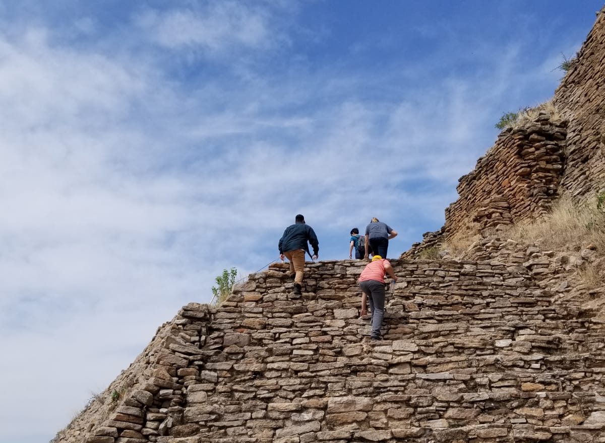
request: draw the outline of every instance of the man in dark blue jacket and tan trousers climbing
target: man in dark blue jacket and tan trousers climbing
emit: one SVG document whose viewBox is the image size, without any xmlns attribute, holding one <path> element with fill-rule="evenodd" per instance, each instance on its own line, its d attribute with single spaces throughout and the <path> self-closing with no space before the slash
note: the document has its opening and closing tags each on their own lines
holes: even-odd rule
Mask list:
<svg viewBox="0 0 605 443">
<path fill-rule="evenodd" d="M 296 216 L 296 223 L 290 225 L 284 231 L 280 239 L 280 258 L 284 256 L 290 261 L 290 277 L 294 279 L 294 294 L 300 295 L 302 288 L 302 271 L 304 270 L 304 254 L 309 252 L 309 245 L 313 247 L 313 260 L 317 260 L 319 253 L 319 242 L 315 231 L 309 225 L 305 224 L 302 215 Z M 296 276 L 295 276 L 296 273 Z"/>
</svg>

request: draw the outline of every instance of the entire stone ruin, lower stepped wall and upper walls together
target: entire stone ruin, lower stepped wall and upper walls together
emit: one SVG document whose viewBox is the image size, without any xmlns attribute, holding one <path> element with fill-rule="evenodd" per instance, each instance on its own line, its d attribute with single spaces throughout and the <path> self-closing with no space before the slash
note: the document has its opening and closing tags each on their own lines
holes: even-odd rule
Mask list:
<svg viewBox="0 0 605 443">
<path fill-rule="evenodd" d="M 555 92 L 563 118 L 500 134 L 445 227 L 391 261 L 384 341 L 359 319 L 364 262 L 307 264 L 301 296 L 273 264 L 217 308 L 184 306 L 53 442 L 605 442 L 605 318 L 569 257 L 488 238 L 466 260 L 411 258 L 602 191 L 604 99 L 605 8 Z"/>
</svg>

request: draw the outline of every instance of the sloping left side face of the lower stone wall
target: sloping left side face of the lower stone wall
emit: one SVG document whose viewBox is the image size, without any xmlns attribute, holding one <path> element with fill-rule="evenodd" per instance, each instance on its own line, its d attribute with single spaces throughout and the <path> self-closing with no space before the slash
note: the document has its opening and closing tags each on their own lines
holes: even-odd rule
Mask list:
<svg viewBox="0 0 605 443">
<path fill-rule="evenodd" d="M 185 404 L 186 377 L 175 376 L 179 375 L 176 369 L 188 367 L 188 360 L 179 354 L 191 352 L 191 341 L 203 344 L 206 329 L 201 325 L 208 319 L 208 305 L 191 303 L 181 309 L 172 322 L 158 328 L 128 369 L 57 433 L 52 443 L 137 443 L 148 442 L 150 435 L 154 441 L 154 435 L 166 434 L 182 419 L 182 408 L 176 406 Z"/>
</svg>

